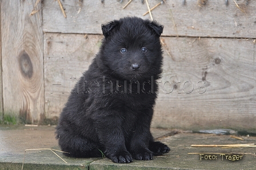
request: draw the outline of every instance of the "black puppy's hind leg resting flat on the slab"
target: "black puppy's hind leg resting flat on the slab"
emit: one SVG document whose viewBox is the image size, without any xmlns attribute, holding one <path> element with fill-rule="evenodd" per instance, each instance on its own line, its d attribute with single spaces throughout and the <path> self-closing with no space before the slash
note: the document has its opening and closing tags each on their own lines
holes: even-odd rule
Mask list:
<svg viewBox="0 0 256 170">
<path fill-rule="evenodd" d="M 57 136 L 61 150 L 70 157 L 102 157 L 102 148 L 93 141 L 79 136 Z"/>
</svg>

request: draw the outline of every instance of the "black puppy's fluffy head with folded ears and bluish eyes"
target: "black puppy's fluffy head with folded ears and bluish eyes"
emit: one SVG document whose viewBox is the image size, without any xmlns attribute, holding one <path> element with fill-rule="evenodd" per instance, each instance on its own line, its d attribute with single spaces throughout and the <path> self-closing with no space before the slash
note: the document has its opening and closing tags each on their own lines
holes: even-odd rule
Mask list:
<svg viewBox="0 0 256 170">
<path fill-rule="evenodd" d="M 111 74 L 121 79 L 147 79 L 161 73 L 159 37 L 163 26 L 137 17 L 126 17 L 102 25 L 105 37 L 101 59 Z"/>
</svg>

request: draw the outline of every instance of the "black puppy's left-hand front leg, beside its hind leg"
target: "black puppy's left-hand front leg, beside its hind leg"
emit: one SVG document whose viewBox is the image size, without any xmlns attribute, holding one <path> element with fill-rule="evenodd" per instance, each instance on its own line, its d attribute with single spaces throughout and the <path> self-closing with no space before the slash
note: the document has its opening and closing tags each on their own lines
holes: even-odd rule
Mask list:
<svg viewBox="0 0 256 170">
<path fill-rule="evenodd" d="M 99 140 L 105 148 L 104 153 L 114 163 L 131 163 L 133 159 L 125 146 L 121 121 L 113 117 L 107 116 L 95 123 Z"/>
</svg>

